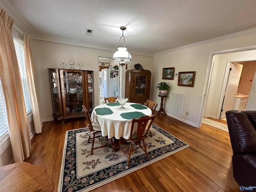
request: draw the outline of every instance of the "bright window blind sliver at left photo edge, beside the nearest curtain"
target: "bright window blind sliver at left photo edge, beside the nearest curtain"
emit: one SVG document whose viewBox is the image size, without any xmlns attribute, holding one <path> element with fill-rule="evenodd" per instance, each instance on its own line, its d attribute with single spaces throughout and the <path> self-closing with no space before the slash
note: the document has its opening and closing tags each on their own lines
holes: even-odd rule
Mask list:
<svg viewBox="0 0 256 192">
<path fill-rule="evenodd" d="M 4 94 L 0 82 L 0 141 L 8 135 L 8 122 L 6 116 L 6 107 L 4 102 Z"/>
</svg>

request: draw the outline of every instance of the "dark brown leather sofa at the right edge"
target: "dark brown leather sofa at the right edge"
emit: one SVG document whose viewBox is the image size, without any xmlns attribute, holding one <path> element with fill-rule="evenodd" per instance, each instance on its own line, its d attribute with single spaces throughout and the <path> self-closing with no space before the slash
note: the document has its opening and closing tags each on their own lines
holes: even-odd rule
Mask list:
<svg viewBox="0 0 256 192">
<path fill-rule="evenodd" d="M 256 111 L 226 112 L 233 176 L 240 186 L 256 186 Z"/>
</svg>

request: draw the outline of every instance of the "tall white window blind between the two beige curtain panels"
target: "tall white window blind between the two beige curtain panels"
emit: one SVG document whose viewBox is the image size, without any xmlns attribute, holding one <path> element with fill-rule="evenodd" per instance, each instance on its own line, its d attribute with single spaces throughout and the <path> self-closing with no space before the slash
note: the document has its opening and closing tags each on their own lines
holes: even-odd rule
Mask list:
<svg viewBox="0 0 256 192">
<path fill-rule="evenodd" d="M 21 40 L 18 40 L 16 38 L 13 38 L 13 40 L 14 40 L 14 47 L 17 55 L 19 68 L 20 68 L 20 78 L 22 83 L 23 96 L 25 100 L 26 112 L 28 115 L 32 112 L 32 110 L 31 110 L 31 102 L 30 102 L 30 95 L 29 95 L 29 89 L 28 89 L 28 79 L 27 79 L 26 67 L 25 67 L 24 47 L 23 47 L 23 42 Z"/>
</svg>

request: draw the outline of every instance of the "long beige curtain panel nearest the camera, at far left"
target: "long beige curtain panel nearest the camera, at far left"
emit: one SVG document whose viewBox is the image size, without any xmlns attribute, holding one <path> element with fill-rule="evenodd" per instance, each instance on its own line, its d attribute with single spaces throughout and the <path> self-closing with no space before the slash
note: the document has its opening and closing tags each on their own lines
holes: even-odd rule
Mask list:
<svg viewBox="0 0 256 192">
<path fill-rule="evenodd" d="M 31 148 L 20 70 L 12 38 L 13 20 L 0 8 L 0 79 L 7 110 L 14 162 L 29 157 Z"/>
</svg>

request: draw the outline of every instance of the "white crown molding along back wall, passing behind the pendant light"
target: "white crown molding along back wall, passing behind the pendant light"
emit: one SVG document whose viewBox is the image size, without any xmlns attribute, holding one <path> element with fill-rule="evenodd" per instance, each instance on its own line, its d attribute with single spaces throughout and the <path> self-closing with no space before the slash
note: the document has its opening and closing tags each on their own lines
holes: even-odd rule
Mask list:
<svg viewBox="0 0 256 192">
<path fill-rule="evenodd" d="M 38 35 L 38 34 L 32 34 L 31 36 L 34 40 L 62 43 L 62 44 L 69 44 L 69 45 L 76 45 L 76 46 L 82 46 L 82 47 L 88 47 L 88 48 L 94 48 L 94 49 L 102 49 L 102 50 L 108 50 L 108 51 L 113 51 L 114 50 L 114 48 L 109 47 L 109 46 L 86 43 L 86 42 L 76 41 L 76 40 L 72 40 L 72 39 L 57 38 L 57 37 L 44 36 L 44 35 Z M 136 54 L 136 55 L 142 55 L 142 56 L 154 57 L 154 54 L 132 51 L 130 49 L 129 49 L 129 53 L 130 54 Z"/>
</svg>

